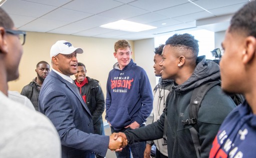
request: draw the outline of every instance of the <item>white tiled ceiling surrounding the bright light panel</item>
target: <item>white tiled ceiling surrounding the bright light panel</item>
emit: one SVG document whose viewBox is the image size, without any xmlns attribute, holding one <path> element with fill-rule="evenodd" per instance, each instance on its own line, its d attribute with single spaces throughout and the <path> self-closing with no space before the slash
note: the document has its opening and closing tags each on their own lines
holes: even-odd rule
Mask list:
<svg viewBox="0 0 256 158">
<path fill-rule="evenodd" d="M 248 0 L 7 0 L 20 30 L 138 40 L 181 30 L 222 31 Z M 99 27 L 125 19 L 157 28 L 127 32 Z M 166 24 L 162 24 L 166 23 Z"/>
</svg>

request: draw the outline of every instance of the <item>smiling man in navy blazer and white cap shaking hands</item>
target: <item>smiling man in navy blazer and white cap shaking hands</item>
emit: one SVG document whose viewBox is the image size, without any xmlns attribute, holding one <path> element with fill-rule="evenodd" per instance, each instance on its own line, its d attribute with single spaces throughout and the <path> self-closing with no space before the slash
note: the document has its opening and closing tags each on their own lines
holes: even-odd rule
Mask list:
<svg viewBox="0 0 256 158">
<path fill-rule="evenodd" d="M 83 50 L 74 48 L 67 41 L 60 40 L 52 45 L 52 71 L 40 90 L 39 112 L 55 126 L 61 141 L 62 158 L 94 158 L 94 154 L 104 157 L 107 148 L 121 149 L 127 140 L 119 138 L 114 142 L 113 135 L 109 138 L 92 134 L 90 112 L 70 78 L 76 73 L 76 53 L 83 53 Z"/>
</svg>

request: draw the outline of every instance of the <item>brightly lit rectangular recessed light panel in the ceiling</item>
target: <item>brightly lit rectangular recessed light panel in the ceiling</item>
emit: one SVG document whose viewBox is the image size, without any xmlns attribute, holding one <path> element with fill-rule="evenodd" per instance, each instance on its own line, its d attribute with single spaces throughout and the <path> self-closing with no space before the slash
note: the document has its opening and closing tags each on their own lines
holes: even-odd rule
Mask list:
<svg viewBox="0 0 256 158">
<path fill-rule="evenodd" d="M 100 27 L 110 28 L 110 29 L 117 29 L 122 31 L 129 31 L 129 32 L 139 32 L 144 30 L 149 30 L 156 28 L 154 26 L 145 25 L 137 22 L 131 22 L 127 20 L 118 20 L 115 22 L 110 22 L 107 24 L 103 24 Z"/>
</svg>

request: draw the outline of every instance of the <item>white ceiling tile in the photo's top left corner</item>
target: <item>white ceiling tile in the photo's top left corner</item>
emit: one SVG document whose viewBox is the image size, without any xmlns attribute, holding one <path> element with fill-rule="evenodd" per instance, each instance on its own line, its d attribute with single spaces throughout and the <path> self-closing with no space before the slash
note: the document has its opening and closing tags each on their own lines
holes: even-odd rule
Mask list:
<svg viewBox="0 0 256 158">
<path fill-rule="evenodd" d="M 24 0 L 7 0 L 5 3 L 3 3 L 1 7 L 9 14 L 31 17 L 40 17 L 47 12 L 57 8 L 55 6 L 39 4 Z"/>
</svg>

